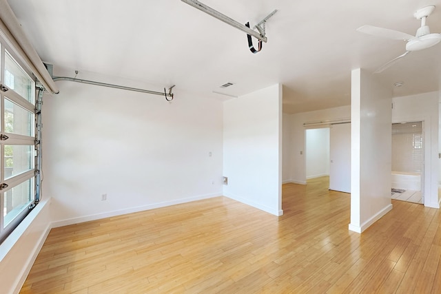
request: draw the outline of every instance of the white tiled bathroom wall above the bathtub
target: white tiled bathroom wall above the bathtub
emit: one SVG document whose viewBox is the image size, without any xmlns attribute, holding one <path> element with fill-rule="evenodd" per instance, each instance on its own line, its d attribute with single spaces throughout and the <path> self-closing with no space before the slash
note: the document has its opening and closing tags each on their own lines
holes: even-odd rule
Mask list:
<svg viewBox="0 0 441 294">
<path fill-rule="evenodd" d="M 422 123 L 392 125 L 392 171 L 420 173 L 424 162 Z"/>
</svg>

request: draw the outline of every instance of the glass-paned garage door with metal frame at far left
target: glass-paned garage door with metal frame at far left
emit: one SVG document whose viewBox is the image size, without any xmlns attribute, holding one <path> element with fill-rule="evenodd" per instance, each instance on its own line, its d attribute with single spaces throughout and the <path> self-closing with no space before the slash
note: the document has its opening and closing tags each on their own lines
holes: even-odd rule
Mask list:
<svg viewBox="0 0 441 294">
<path fill-rule="evenodd" d="M 0 37 L 0 242 L 37 204 L 36 79 Z"/>
</svg>

